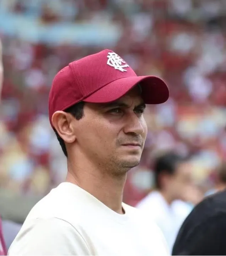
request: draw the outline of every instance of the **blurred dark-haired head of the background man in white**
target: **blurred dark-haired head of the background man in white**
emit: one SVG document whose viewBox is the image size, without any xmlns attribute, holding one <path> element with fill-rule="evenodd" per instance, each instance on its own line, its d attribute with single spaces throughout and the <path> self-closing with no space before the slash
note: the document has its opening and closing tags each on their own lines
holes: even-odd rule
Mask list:
<svg viewBox="0 0 226 256">
<path fill-rule="evenodd" d="M 189 161 L 168 152 L 159 156 L 154 165 L 156 187 L 172 199 L 182 199 L 186 187 L 192 183 Z"/>
</svg>

